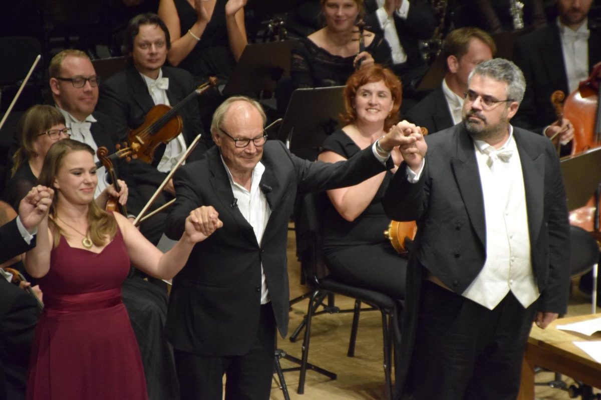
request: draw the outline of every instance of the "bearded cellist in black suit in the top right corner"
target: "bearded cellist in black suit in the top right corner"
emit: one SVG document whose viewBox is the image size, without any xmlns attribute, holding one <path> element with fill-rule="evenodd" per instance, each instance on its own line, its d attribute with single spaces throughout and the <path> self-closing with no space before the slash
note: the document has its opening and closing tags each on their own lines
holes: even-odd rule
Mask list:
<svg viewBox="0 0 601 400">
<path fill-rule="evenodd" d="M 515 44 L 513 60 L 526 78 L 526 93 L 513 124 L 547 137 L 559 134 L 562 145 L 572 140 L 574 128 L 566 118 L 557 121 L 551 94 L 561 90 L 567 97 L 601 61 L 601 29 L 588 19 L 592 3 L 557 0 L 557 20 Z"/>
</svg>

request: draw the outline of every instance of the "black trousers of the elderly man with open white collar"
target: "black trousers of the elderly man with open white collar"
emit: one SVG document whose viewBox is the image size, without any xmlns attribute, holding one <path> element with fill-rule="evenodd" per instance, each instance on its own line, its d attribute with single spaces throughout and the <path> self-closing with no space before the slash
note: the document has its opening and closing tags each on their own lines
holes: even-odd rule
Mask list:
<svg viewBox="0 0 601 400">
<path fill-rule="evenodd" d="M 257 339 L 241 356 L 199 356 L 174 350 L 181 400 L 269 400 L 275 357 L 275 318 L 261 305 Z"/>
</svg>

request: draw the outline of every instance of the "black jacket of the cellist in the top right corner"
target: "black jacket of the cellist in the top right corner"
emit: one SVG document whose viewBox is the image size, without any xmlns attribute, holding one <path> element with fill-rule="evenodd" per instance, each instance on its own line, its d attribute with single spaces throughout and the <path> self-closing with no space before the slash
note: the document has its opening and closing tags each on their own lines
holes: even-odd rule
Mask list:
<svg viewBox="0 0 601 400">
<path fill-rule="evenodd" d="M 590 20 L 589 20 L 590 21 Z M 589 24 L 588 69 L 601 61 L 601 28 Z M 512 122 L 525 129 L 540 131 L 555 120 L 551 94 L 561 90 L 569 95 L 566 64 L 561 47 L 560 29 L 551 22 L 543 29 L 517 38 L 513 61 L 526 79 L 526 92 Z"/>
</svg>

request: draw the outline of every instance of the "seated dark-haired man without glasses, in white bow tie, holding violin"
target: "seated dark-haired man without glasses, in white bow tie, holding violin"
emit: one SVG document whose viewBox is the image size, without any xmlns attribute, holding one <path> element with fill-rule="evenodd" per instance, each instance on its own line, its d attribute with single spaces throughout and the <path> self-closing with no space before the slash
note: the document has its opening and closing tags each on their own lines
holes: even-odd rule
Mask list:
<svg viewBox="0 0 601 400">
<path fill-rule="evenodd" d="M 102 83 L 97 107 L 97 110 L 112 117 L 120 137 L 126 136 L 129 128 L 141 125 L 154 106 L 165 104 L 173 107 L 194 91 L 194 80 L 188 71 L 163 65 L 169 47 L 169 31 L 159 16 L 139 14 L 130 20 L 123 44 L 128 65 L 126 70 Z M 201 142 L 188 161 L 200 157 L 210 146 L 210 138 L 204 135 L 200 121 L 198 101 L 194 98 L 188 101 L 178 114 L 182 117 L 183 130 L 169 143 L 156 149 L 151 163 L 153 168 L 145 168 L 139 165 L 141 163 L 123 168 L 127 184 L 135 187 L 143 199 L 150 199 L 198 134 L 203 134 Z M 151 209 L 174 195 L 173 184 L 169 181 Z M 160 223 L 153 223 L 161 231 L 165 213 L 162 214 Z M 155 244 L 159 238 L 160 235 L 149 237 Z"/>
</svg>

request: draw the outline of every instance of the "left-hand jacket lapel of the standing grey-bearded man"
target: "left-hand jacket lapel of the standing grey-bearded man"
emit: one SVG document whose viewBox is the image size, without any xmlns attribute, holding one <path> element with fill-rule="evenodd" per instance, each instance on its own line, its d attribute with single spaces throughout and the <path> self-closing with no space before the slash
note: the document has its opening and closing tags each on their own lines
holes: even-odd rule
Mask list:
<svg viewBox="0 0 601 400">
<path fill-rule="evenodd" d="M 457 142 L 456 157 L 451 158 L 451 167 L 472 227 L 483 246 L 486 246 L 484 224 L 484 197 L 480 185 L 480 172 L 474 152 L 474 142 L 463 125 L 454 131 Z"/>
</svg>

